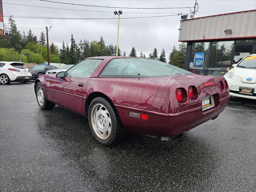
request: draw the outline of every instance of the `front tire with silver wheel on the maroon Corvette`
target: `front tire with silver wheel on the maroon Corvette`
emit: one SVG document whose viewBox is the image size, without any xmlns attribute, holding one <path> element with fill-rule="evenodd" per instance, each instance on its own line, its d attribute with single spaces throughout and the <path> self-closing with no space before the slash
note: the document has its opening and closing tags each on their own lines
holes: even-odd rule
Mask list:
<svg viewBox="0 0 256 192">
<path fill-rule="evenodd" d="M 36 84 L 36 100 L 41 109 L 52 109 L 55 104 L 46 99 L 44 88 L 40 82 Z"/>
</svg>

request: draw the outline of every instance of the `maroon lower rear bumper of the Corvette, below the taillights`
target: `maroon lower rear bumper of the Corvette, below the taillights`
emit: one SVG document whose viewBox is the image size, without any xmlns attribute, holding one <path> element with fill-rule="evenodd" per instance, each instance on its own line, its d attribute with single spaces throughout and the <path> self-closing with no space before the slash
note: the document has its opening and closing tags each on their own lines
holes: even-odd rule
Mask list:
<svg viewBox="0 0 256 192">
<path fill-rule="evenodd" d="M 184 131 L 188 131 L 204 122 L 218 116 L 228 105 L 229 96 L 220 100 L 218 106 L 206 111 L 202 111 L 202 107 L 192 110 L 165 114 L 137 108 L 115 105 L 120 115 L 122 124 L 132 132 L 153 136 L 175 136 Z M 129 116 L 129 112 L 135 112 L 148 115 L 148 120 L 134 118 Z"/>
</svg>

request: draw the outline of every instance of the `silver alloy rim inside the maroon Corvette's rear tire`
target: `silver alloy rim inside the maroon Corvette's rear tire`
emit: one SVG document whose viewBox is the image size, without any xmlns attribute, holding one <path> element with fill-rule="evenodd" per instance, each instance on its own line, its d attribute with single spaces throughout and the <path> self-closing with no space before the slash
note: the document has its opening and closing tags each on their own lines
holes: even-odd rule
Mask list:
<svg viewBox="0 0 256 192">
<path fill-rule="evenodd" d="M 92 128 L 98 138 L 106 140 L 109 138 L 112 130 L 112 122 L 107 108 L 97 103 L 92 108 L 91 113 Z"/>
</svg>

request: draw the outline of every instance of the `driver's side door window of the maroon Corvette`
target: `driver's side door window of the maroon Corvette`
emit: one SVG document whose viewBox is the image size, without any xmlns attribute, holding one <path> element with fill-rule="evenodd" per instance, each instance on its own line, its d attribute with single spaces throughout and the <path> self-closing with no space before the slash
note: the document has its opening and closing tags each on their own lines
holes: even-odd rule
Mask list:
<svg viewBox="0 0 256 192">
<path fill-rule="evenodd" d="M 86 59 L 66 71 L 67 77 L 90 77 L 96 67 L 102 62 L 101 59 Z"/>
</svg>

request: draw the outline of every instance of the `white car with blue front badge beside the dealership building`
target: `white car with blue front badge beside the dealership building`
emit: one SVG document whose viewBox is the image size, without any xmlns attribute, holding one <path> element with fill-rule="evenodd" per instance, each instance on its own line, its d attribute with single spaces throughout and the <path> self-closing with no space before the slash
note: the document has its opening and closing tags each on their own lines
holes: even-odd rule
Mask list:
<svg viewBox="0 0 256 192">
<path fill-rule="evenodd" d="M 224 75 L 230 96 L 256 99 L 256 54 L 245 57 L 232 67 Z"/>
</svg>

